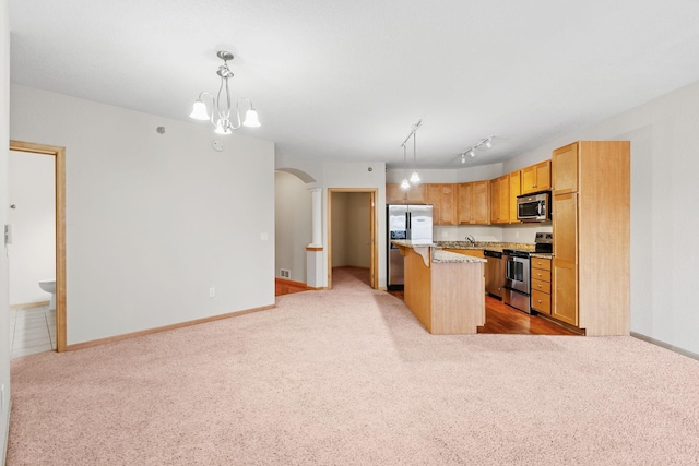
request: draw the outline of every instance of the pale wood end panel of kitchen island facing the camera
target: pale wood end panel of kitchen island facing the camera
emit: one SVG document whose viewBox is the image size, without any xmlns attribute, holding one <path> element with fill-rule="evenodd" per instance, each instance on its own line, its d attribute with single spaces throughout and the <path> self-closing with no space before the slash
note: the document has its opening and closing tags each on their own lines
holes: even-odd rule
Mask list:
<svg viewBox="0 0 699 466">
<path fill-rule="evenodd" d="M 431 330 L 435 335 L 475 334 L 485 324 L 482 262 L 431 264 Z"/>
</svg>

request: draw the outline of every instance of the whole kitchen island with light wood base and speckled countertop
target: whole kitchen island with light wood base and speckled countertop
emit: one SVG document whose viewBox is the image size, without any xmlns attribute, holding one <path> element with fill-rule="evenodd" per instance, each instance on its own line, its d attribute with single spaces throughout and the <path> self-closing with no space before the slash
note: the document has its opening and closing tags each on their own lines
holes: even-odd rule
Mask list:
<svg viewBox="0 0 699 466">
<path fill-rule="evenodd" d="M 431 334 L 475 334 L 485 324 L 485 259 L 433 243 L 393 241 L 404 260 L 404 299 Z"/>
</svg>

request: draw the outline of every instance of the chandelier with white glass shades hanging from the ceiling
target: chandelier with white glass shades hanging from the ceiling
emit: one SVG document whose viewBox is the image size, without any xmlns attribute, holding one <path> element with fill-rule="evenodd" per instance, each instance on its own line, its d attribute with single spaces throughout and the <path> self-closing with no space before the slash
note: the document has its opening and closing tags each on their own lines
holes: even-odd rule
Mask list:
<svg viewBox="0 0 699 466">
<path fill-rule="evenodd" d="M 258 120 L 258 112 L 252 107 L 252 101 L 249 98 L 239 98 L 236 100 L 235 107 L 235 122 L 230 120 L 230 113 L 233 112 L 233 106 L 230 104 L 230 88 L 228 87 L 228 80 L 233 77 L 233 72 L 228 68 L 228 60 L 233 60 L 233 53 L 229 51 L 220 51 L 216 56 L 223 60 L 223 64 L 218 67 L 216 74 L 221 77 L 221 86 L 218 87 L 218 95 L 214 97 L 208 92 L 199 94 L 199 98 L 194 101 L 192 112 L 189 115 L 194 120 L 209 120 L 215 128 L 217 134 L 230 134 L 233 130 L 237 130 L 240 126 L 250 128 L 257 128 L 260 126 Z M 224 94 L 225 89 L 225 94 Z M 211 113 L 204 104 L 204 96 L 211 98 Z M 245 113 L 245 120 L 240 122 L 240 104 L 245 103 L 250 108 Z"/>
</svg>

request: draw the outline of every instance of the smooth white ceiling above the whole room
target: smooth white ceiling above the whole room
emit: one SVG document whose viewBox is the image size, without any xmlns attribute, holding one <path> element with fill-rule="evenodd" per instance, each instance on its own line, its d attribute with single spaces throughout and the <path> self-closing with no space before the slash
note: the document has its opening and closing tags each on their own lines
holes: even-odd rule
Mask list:
<svg viewBox="0 0 699 466">
<path fill-rule="evenodd" d="M 696 0 L 9 5 L 13 83 L 192 121 L 198 94 L 218 89 L 216 51 L 228 50 L 233 95 L 262 123 L 241 133 L 283 156 L 391 168 L 418 120 L 418 168 L 470 167 L 699 81 Z M 490 135 L 490 150 L 460 163 Z"/>
</svg>

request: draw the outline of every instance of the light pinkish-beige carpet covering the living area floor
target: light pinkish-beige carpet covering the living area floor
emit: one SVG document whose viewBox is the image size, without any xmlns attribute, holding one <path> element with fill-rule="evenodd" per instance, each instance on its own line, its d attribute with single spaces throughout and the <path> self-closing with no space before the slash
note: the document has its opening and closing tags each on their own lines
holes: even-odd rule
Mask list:
<svg viewBox="0 0 699 466">
<path fill-rule="evenodd" d="M 279 308 L 12 361 L 9 465 L 697 465 L 699 361 L 434 336 L 337 270 Z"/>
</svg>

